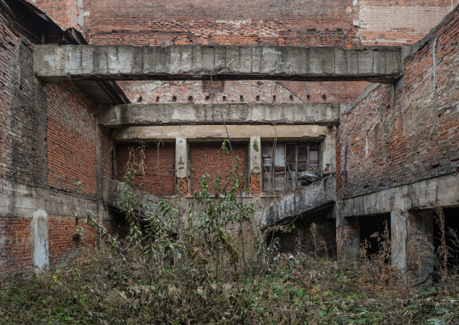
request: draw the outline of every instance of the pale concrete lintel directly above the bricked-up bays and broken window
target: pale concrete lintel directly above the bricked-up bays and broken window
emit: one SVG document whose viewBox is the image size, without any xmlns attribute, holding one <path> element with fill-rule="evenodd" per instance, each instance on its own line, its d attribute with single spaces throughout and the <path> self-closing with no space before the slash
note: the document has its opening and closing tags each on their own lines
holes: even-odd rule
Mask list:
<svg viewBox="0 0 459 325">
<path fill-rule="evenodd" d="M 129 126 L 114 130 L 115 141 L 137 141 L 139 139 L 162 140 L 187 138 L 187 139 L 220 139 L 247 140 L 252 136 L 265 139 L 297 138 L 299 140 L 322 140 L 328 136 L 328 126 L 317 125 L 183 125 L 183 126 Z"/>
</svg>

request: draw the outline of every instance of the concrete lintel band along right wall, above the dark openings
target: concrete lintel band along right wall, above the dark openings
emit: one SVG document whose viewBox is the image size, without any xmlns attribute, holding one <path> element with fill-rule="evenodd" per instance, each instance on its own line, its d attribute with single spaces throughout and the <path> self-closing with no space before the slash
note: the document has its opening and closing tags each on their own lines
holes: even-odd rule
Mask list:
<svg viewBox="0 0 459 325">
<path fill-rule="evenodd" d="M 459 206 L 459 174 L 424 179 L 412 184 L 343 199 L 338 203 L 340 217 L 343 218 L 434 208 L 436 200 L 440 206 Z"/>
</svg>

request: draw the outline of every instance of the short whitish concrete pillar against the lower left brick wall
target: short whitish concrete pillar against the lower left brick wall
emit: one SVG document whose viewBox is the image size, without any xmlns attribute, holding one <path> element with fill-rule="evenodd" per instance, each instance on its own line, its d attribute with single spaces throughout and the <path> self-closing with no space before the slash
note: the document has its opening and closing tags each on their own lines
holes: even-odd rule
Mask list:
<svg viewBox="0 0 459 325">
<path fill-rule="evenodd" d="M 32 266 L 35 272 L 47 272 L 49 268 L 48 216 L 43 210 L 33 213 L 30 221 L 32 242 Z"/>
</svg>

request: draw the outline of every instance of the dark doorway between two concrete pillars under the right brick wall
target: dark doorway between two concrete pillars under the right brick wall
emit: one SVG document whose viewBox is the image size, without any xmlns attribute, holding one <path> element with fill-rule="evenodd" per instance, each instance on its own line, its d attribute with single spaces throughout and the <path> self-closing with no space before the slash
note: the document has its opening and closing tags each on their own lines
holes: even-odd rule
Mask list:
<svg viewBox="0 0 459 325">
<path fill-rule="evenodd" d="M 383 235 L 384 230 L 386 229 L 386 222 L 389 232 L 389 239 L 391 239 L 391 213 L 366 215 L 359 218 L 360 242 L 363 242 L 364 240 L 369 241 L 371 247 L 369 247 L 369 249 L 366 251 L 369 255 L 376 254 L 380 249 L 377 238 L 371 237 L 371 235 L 374 235 L 376 232 L 378 232 L 379 237 L 381 240 L 383 240 L 381 235 Z"/>
</svg>

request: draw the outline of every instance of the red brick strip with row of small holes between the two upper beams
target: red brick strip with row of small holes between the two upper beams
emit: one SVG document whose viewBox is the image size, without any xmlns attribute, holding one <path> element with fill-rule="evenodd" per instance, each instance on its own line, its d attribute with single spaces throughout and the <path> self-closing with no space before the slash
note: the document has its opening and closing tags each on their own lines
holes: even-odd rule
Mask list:
<svg viewBox="0 0 459 325">
<path fill-rule="evenodd" d="M 352 102 L 369 85 L 359 82 L 225 81 L 212 87 L 203 81 L 119 81 L 131 102 L 192 102 L 196 104 L 260 102 Z M 215 83 L 217 83 L 215 81 Z M 153 88 L 153 89 L 152 89 Z M 241 101 L 241 95 L 243 100 Z M 216 99 L 215 99 L 216 96 Z M 258 96 L 258 98 L 257 98 Z M 275 98 L 273 97 L 275 96 Z M 175 100 L 173 98 L 176 98 Z M 225 98 L 224 98 L 225 97 Z M 141 98 L 141 99 L 140 99 Z"/>
</svg>

